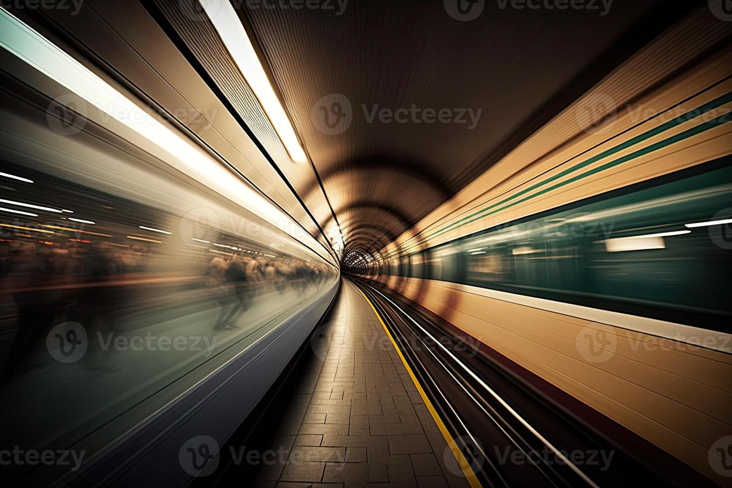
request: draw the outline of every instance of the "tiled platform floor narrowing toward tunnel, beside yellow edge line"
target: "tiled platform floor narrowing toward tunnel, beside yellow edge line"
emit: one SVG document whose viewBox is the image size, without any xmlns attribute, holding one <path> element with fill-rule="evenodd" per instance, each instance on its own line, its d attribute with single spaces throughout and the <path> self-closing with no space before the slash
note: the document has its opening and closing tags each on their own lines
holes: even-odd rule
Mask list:
<svg viewBox="0 0 732 488">
<path fill-rule="evenodd" d="M 381 323 L 344 280 L 298 390 L 273 422 L 261 487 L 468 487 Z M 271 420 L 270 420 L 271 421 Z M 446 461 L 449 465 L 446 466 Z M 249 486 L 250 483 L 245 484 Z"/>
</svg>

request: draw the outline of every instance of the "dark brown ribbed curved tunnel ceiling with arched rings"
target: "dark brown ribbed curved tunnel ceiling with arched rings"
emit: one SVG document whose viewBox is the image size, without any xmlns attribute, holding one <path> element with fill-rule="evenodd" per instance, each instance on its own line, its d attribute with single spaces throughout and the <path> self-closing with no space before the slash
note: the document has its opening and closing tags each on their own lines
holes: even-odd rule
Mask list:
<svg viewBox="0 0 732 488">
<path fill-rule="evenodd" d="M 232 3 L 312 162 L 296 192 L 343 234 L 347 261 L 410 229 L 691 8 L 485 2 L 460 21 L 438 0 Z"/>
</svg>

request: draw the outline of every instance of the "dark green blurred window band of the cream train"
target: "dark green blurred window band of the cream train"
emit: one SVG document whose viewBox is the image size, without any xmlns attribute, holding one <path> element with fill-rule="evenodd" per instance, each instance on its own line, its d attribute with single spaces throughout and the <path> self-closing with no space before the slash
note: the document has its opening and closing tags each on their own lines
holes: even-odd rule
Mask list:
<svg viewBox="0 0 732 488">
<path fill-rule="evenodd" d="M 732 168 L 714 167 L 443 244 L 425 277 L 729 329 Z"/>
</svg>

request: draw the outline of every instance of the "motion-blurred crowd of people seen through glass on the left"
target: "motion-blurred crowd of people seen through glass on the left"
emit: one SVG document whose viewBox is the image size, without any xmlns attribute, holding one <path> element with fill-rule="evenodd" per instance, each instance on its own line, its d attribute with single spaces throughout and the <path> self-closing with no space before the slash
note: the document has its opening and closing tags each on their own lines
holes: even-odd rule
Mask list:
<svg viewBox="0 0 732 488">
<path fill-rule="evenodd" d="M 88 334 L 124 332 L 139 326 L 137 319 L 130 324 L 130 311 L 165 307 L 167 317 L 176 316 L 179 304 L 168 293 L 185 290 L 213 309 L 214 331 L 239 329 L 237 321 L 255 299 L 276 300 L 291 291 L 302 300 L 335 276 L 324 265 L 285 255 L 217 253 L 211 258 L 209 249 L 201 249 L 191 260 L 160 249 L 81 239 L 62 244 L 0 240 L 0 380 L 7 383 L 28 369 L 58 323 L 80 323 Z M 150 284 L 166 277 L 165 285 Z M 105 367 L 93 351 L 87 356 L 91 367 Z"/>
</svg>

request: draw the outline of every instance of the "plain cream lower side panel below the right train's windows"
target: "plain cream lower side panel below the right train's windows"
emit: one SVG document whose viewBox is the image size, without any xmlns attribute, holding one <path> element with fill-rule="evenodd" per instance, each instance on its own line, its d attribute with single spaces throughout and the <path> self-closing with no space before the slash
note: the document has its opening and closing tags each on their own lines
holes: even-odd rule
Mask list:
<svg viewBox="0 0 732 488">
<path fill-rule="evenodd" d="M 720 435 L 732 432 L 732 356 L 493 299 L 480 288 L 423 281 L 408 279 L 406 295 L 420 290 L 419 303 L 427 309 L 706 476 L 715 476 L 707 453 Z M 456 305 L 448 296 L 457 297 L 452 299 Z M 616 338 L 616 350 L 604 361 L 583 356 L 582 332 L 594 330 Z"/>
</svg>

